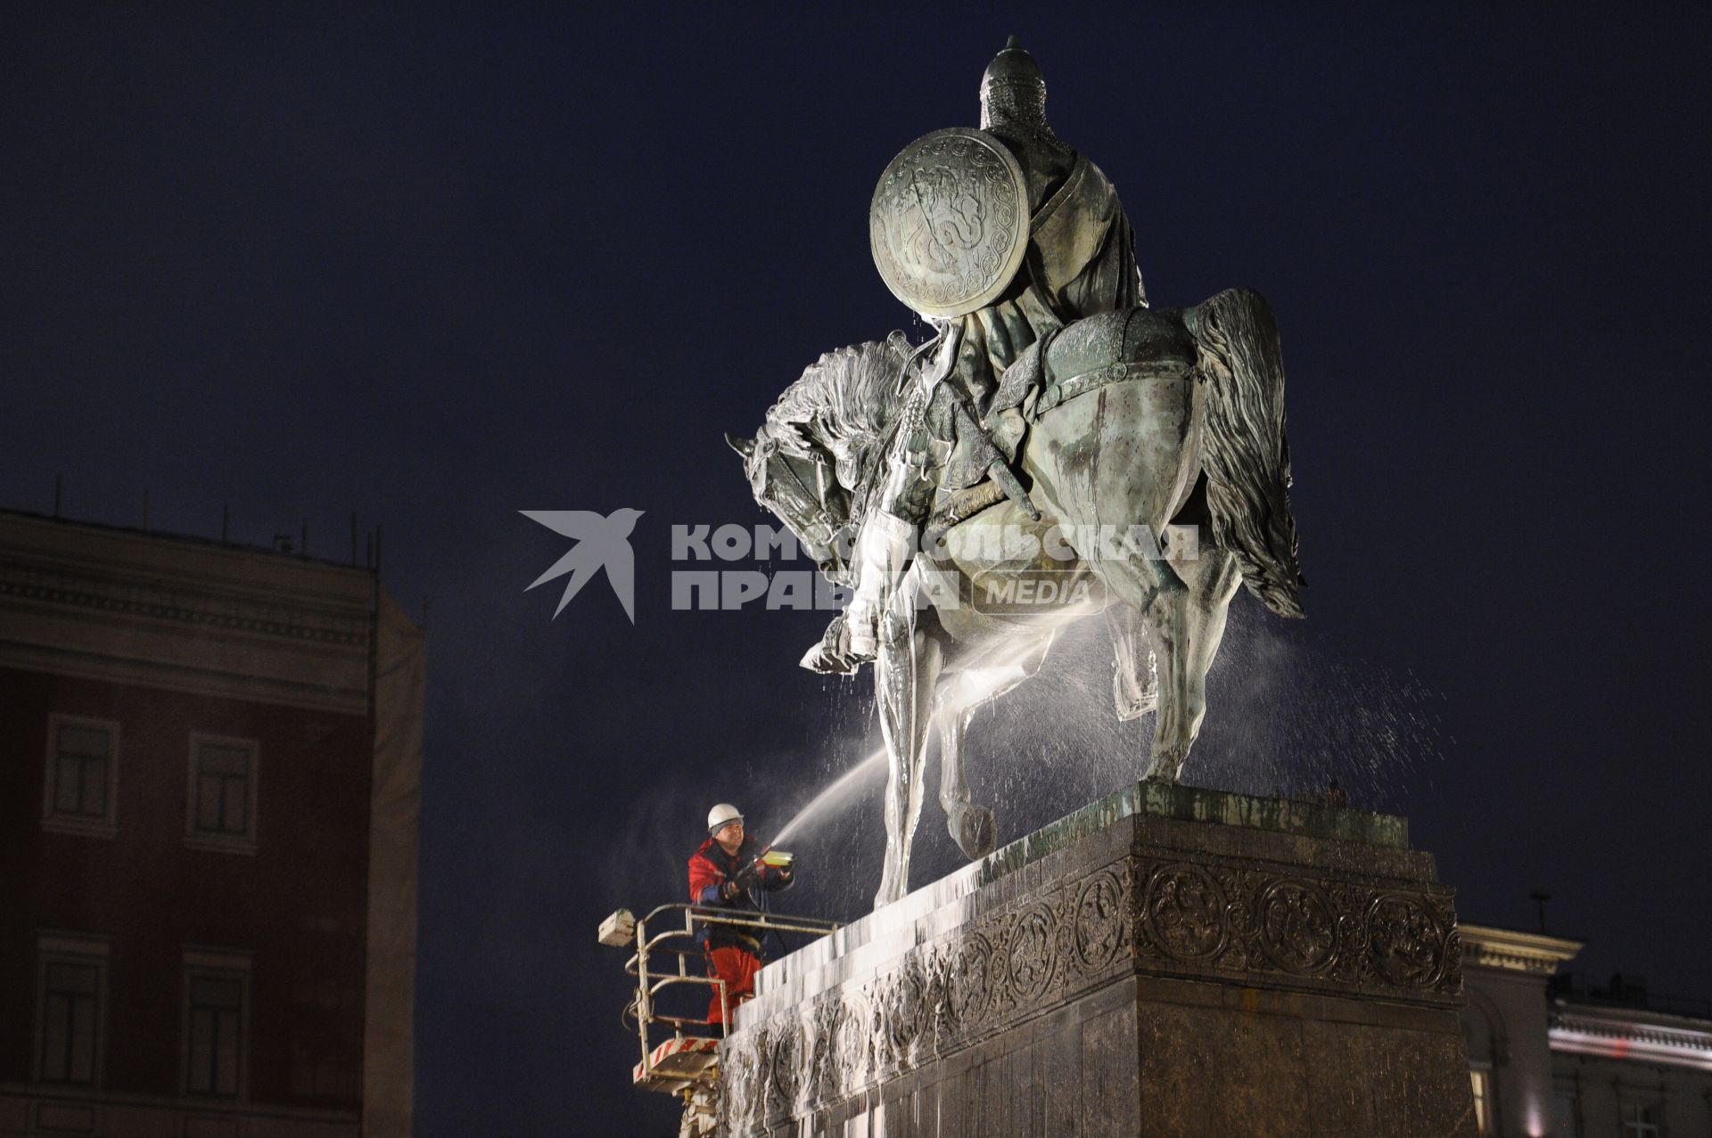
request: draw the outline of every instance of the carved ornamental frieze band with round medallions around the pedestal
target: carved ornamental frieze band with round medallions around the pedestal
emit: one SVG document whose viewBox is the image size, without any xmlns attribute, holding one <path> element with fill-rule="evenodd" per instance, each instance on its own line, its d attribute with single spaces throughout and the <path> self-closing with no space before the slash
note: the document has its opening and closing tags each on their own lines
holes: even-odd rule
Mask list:
<svg viewBox="0 0 1712 1138">
<path fill-rule="evenodd" d="M 728 1135 L 765 1133 L 1061 1006 L 1128 967 L 1442 1003 L 1462 984 L 1450 890 L 1255 862 L 1104 866 L 984 914 L 724 1044 Z"/>
</svg>

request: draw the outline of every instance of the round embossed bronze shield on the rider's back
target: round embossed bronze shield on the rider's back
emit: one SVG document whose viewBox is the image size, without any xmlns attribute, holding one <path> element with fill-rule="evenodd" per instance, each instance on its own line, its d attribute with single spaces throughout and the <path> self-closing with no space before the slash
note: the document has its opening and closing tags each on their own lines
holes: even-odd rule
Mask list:
<svg viewBox="0 0 1712 1138">
<path fill-rule="evenodd" d="M 971 127 L 904 147 L 868 209 L 873 264 L 897 299 L 924 317 L 990 305 L 1029 248 L 1029 185 L 1005 144 Z"/>
</svg>

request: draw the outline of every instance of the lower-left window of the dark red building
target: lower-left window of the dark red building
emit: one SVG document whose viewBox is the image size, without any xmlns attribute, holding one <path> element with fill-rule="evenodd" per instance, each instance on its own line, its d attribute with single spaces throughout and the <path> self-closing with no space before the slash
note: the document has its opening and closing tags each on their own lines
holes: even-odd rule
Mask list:
<svg viewBox="0 0 1712 1138">
<path fill-rule="evenodd" d="M 36 1078 L 98 1087 L 110 941 L 80 933 L 43 933 L 36 941 Z"/>
</svg>

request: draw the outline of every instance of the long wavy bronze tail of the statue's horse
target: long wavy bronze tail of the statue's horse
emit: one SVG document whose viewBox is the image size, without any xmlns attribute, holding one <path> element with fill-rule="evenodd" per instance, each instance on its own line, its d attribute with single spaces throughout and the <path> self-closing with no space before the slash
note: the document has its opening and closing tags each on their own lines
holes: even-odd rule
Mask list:
<svg viewBox="0 0 1712 1138">
<path fill-rule="evenodd" d="M 1207 400 L 1202 467 L 1212 539 L 1236 556 L 1243 584 L 1279 616 L 1305 616 L 1289 512 L 1284 354 L 1272 306 L 1253 289 L 1226 289 L 1185 313 L 1200 344 Z"/>
</svg>

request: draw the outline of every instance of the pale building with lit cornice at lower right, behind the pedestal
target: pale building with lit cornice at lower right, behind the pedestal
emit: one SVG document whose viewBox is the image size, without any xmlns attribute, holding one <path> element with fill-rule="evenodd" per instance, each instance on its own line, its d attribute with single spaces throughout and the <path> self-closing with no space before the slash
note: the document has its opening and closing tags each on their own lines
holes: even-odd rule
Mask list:
<svg viewBox="0 0 1712 1138">
<path fill-rule="evenodd" d="M 1479 1133 L 1561 1138 L 1712 1136 L 1712 1006 L 1649 998 L 1620 977 L 1561 974 L 1580 941 L 1462 926 L 1462 979 Z"/>
</svg>

